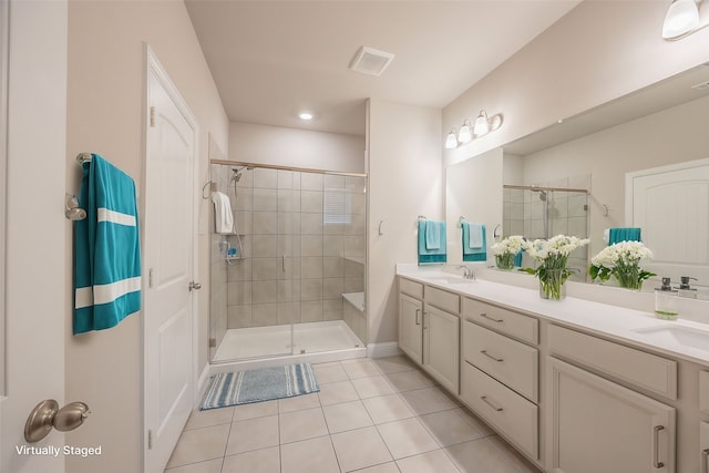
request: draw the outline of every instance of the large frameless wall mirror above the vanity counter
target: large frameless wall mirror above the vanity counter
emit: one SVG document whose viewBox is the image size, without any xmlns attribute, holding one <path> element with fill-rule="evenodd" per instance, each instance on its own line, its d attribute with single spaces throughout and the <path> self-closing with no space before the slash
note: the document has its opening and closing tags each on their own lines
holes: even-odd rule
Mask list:
<svg viewBox="0 0 709 473">
<path fill-rule="evenodd" d="M 459 189 L 450 187 L 464 182 L 461 174 L 470 172 L 475 166 L 473 163 L 484 155 L 450 167 L 448 175 L 456 178 L 449 178 L 446 183 L 449 225 L 454 225 L 456 218 L 451 215 L 451 207 L 454 213 L 472 220 L 480 215 L 493 228 L 500 224 L 502 230 L 497 229 L 495 234 L 501 237 L 522 234 L 527 238 L 538 238 L 559 233 L 588 237 L 590 245 L 583 255 L 587 260 L 607 245 L 605 229 L 637 224 L 626 210 L 626 176 L 645 171 L 651 173 L 650 169 L 671 171 L 681 167 L 681 163 L 709 158 L 707 123 L 709 64 L 504 145 L 501 153 L 494 154 L 502 161 L 503 168 L 497 183 L 503 189 L 502 205 L 492 206 L 497 215 L 490 215 L 490 212 L 483 215 L 476 213 L 472 205 L 466 207 L 461 202 L 450 202 L 451 195 L 460 194 Z M 695 176 L 692 179 L 696 181 Z M 647 210 L 655 216 L 672 209 L 676 214 L 697 216 L 685 218 L 693 226 L 666 232 L 674 234 L 675 238 L 664 238 L 662 245 L 679 248 L 691 245 L 691 241 L 709 239 L 709 184 L 706 181 L 695 184 L 699 191 L 691 205 L 680 206 L 681 200 L 671 199 L 667 205 L 651 206 Z M 490 200 L 489 195 L 475 198 Z M 675 219 L 669 225 L 677 226 L 677 222 Z M 653 230 L 646 228 L 644 241 L 648 246 L 651 241 L 659 245 L 660 240 L 647 232 Z M 493 235 L 490 229 L 489 234 Z M 661 276 L 669 276 L 678 282 L 680 276 L 693 276 L 698 279 L 696 285 L 709 286 L 706 255 L 691 257 L 688 263 L 687 258 L 671 259 L 670 255 L 678 251 L 660 247 L 654 251 L 662 263 L 656 271 L 658 277 L 661 271 Z M 584 259 L 577 264 L 579 269 L 585 269 Z"/>
</svg>

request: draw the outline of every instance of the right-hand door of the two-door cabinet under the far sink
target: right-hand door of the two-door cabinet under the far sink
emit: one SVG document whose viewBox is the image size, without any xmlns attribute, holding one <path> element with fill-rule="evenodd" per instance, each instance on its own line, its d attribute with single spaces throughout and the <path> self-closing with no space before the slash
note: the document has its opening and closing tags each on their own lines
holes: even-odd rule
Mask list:
<svg viewBox="0 0 709 473">
<path fill-rule="evenodd" d="M 425 306 L 423 313 L 423 368 L 449 391 L 459 393 L 460 318 Z"/>
</svg>

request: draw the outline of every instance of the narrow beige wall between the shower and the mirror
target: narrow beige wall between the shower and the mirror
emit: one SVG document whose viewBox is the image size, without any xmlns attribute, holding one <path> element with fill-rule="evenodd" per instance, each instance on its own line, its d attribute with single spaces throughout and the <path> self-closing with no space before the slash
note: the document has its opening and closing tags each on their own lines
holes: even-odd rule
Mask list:
<svg viewBox="0 0 709 473">
<path fill-rule="evenodd" d="M 394 269 L 417 263 L 417 216 L 444 219 L 443 142 L 438 109 L 371 100 L 368 115 L 368 341 L 382 343 L 397 340 Z"/>
</svg>

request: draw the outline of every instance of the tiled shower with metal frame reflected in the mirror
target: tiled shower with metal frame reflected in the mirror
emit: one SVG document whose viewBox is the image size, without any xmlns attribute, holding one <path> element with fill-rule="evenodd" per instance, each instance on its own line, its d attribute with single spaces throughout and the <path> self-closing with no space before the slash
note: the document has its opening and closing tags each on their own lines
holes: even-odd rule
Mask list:
<svg viewBox="0 0 709 473">
<path fill-rule="evenodd" d="M 503 236 L 522 235 L 527 240 L 554 235 L 588 237 L 588 192 L 582 188 L 503 186 Z M 574 279 L 585 279 L 587 247 L 578 248 L 568 266 L 578 269 Z M 523 266 L 532 267 L 524 257 Z"/>
</svg>

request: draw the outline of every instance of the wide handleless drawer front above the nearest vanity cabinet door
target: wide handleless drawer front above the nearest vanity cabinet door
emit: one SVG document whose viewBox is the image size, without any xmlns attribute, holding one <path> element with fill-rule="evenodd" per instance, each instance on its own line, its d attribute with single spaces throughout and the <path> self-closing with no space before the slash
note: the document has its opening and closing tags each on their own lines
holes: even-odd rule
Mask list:
<svg viewBox="0 0 709 473">
<path fill-rule="evenodd" d="M 677 362 L 563 327 L 549 326 L 549 350 L 668 399 L 677 399 Z"/>
</svg>

